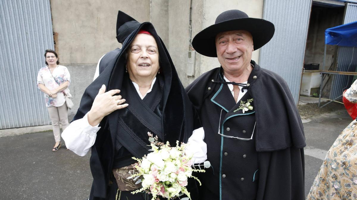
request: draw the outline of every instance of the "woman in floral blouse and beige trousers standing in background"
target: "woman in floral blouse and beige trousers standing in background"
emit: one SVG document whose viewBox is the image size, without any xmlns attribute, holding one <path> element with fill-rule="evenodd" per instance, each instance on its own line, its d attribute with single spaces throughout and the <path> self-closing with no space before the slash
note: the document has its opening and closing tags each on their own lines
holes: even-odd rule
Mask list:
<svg viewBox="0 0 357 200">
<path fill-rule="evenodd" d="M 48 109 L 53 135 L 55 136 L 55 146 L 52 151 L 61 148 L 61 134 L 59 123 L 62 130 L 69 126 L 68 108 L 65 104 L 64 93 L 69 93 L 67 88 L 71 82 L 70 74 L 65 66 L 59 65 L 57 53 L 51 49 L 45 51 L 46 67 L 42 67 L 37 74 L 37 87 L 44 93 L 45 104 Z"/>
</svg>

